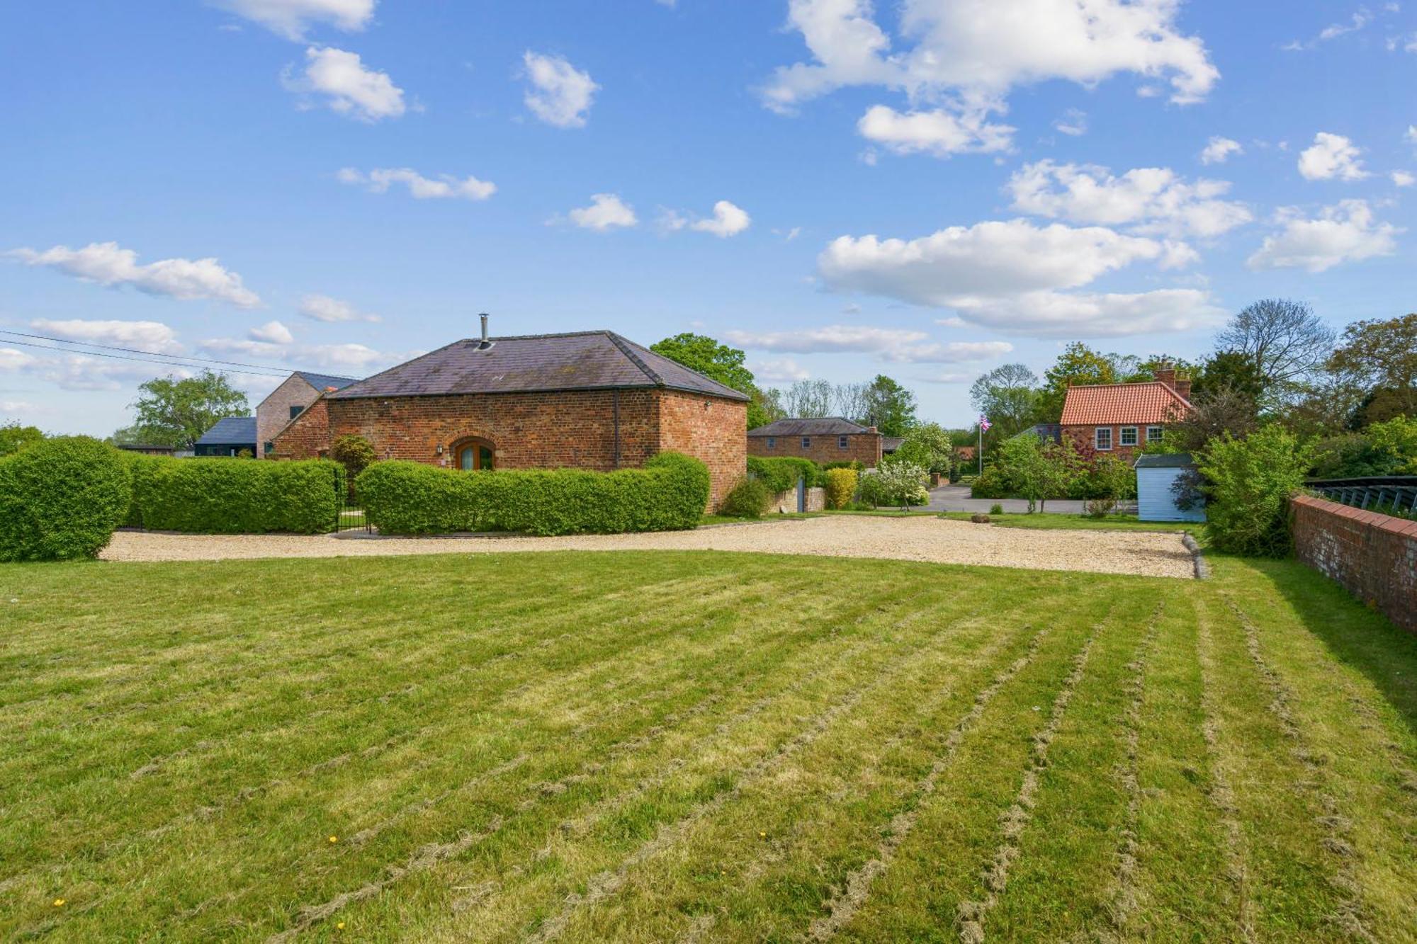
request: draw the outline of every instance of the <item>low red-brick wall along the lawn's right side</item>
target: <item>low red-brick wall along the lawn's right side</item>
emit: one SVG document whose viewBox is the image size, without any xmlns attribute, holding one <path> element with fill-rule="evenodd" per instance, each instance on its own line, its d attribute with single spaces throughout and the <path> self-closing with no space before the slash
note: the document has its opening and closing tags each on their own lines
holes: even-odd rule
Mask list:
<svg viewBox="0 0 1417 944">
<path fill-rule="evenodd" d="M 1417 632 L 1417 522 L 1308 495 L 1289 499 L 1294 553 Z"/>
</svg>

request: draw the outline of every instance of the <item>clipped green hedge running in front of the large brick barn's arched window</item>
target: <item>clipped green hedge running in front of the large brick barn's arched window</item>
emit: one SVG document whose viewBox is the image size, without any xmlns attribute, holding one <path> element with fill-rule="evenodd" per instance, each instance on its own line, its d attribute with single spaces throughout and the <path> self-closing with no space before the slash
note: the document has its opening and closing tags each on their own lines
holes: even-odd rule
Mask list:
<svg viewBox="0 0 1417 944">
<path fill-rule="evenodd" d="M 459 472 L 376 462 L 356 489 L 366 517 L 385 534 L 618 534 L 696 527 L 708 503 L 708 468 L 677 452 L 616 472 Z"/>
</svg>

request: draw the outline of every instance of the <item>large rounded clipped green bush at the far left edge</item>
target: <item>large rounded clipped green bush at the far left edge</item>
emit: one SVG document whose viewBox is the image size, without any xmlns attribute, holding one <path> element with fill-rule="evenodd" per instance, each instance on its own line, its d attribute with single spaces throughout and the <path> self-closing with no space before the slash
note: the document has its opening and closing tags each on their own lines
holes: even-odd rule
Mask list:
<svg viewBox="0 0 1417 944">
<path fill-rule="evenodd" d="M 88 437 L 27 445 L 0 461 L 0 560 L 96 557 L 130 500 L 112 446 Z"/>
</svg>

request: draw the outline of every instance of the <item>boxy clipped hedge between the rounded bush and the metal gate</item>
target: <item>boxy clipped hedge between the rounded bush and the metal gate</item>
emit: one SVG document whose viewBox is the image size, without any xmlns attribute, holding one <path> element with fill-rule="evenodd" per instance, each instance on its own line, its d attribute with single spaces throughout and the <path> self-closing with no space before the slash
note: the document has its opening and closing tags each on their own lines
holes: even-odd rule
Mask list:
<svg viewBox="0 0 1417 944">
<path fill-rule="evenodd" d="M 133 502 L 126 523 L 200 534 L 320 534 L 334 530 L 344 468 L 329 459 L 128 461 Z"/>
</svg>

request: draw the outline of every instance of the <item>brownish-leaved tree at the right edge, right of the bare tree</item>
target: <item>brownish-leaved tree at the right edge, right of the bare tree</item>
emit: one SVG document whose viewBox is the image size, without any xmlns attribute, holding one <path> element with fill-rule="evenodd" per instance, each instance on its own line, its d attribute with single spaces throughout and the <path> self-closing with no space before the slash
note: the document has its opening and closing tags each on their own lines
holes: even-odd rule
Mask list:
<svg viewBox="0 0 1417 944">
<path fill-rule="evenodd" d="M 1359 427 L 1417 417 L 1417 315 L 1353 322 L 1325 369 L 1363 391 Z"/>
</svg>

